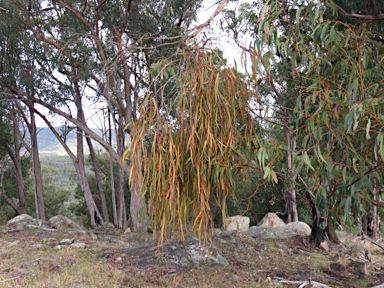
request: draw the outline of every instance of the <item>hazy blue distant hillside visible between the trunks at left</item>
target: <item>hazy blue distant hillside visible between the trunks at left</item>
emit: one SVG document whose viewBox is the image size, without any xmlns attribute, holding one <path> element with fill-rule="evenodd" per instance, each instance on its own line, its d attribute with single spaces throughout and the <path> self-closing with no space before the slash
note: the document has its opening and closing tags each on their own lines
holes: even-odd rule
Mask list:
<svg viewBox="0 0 384 288">
<path fill-rule="evenodd" d="M 56 131 L 61 134 L 61 127 L 55 127 Z M 95 133 L 101 136 L 101 131 L 98 129 L 92 129 Z M 48 127 L 39 127 L 37 128 L 37 144 L 39 147 L 40 157 L 44 156 L 64 156 L 67 155 L 63 146 L 60 144 L 59 140 L 55 137 L 52 131 Z M 115 132 L 112 131 L 112 141 L 115 143 Z M 72 152 L 76 154 L 76 131 L 70 132 L 66 137 L 66 143 L 71 149 Z M 92 140 L 95 149 L 103 149 L 103 147 Z M 88 154 L 88 147 L 84 141 L 85 153 Z"/>
</svg>

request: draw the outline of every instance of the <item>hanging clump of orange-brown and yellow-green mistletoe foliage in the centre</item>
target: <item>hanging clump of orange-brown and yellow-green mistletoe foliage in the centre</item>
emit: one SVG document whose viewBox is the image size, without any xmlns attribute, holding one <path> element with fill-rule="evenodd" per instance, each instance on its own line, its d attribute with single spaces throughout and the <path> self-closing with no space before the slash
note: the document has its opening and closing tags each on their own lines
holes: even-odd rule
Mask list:
<svg viewBox="0 0 384 288">
<path fill-rule="evenodd" d="M 173 77 L 177 96 L 161 107 L 153 95 L 147 98 L 126 153 L 136 155 L 131 158 L 131 179 L 143 177 L 142 193 L 149 197 L 159 243 L 170 231 L 180 232 L 183 238 L 186 223 L 199 239 L 209 240 L 207 231 L 213 228 L 210 203 L 221 207 L 225 219 L 226 200 L 235 198 L 234 171 L 264 171 L 268 165 L 267 153 L 259 157 L 262 166 L 252 161 L 256 154 L 246 156 L 247 151 L 260 147 L 249 114 L 250 103 L 258 99 L 242 75 L 217 65 L 213 53 L 197 50 L 181 56 L 183 65 L 176 73 L 171 62 L 164 61 L 156 72 L 163 81 Z M 267 177 L 276 177 L 272 169 Z"/>
</svg>

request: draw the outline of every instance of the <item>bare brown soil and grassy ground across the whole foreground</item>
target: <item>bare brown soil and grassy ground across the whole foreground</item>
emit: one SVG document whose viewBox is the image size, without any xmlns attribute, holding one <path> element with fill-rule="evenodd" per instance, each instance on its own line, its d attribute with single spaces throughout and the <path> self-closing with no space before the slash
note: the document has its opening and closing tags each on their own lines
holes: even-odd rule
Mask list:
<svg viewBox="0 0 384 288">
<path fill-rule="evenodd" d="M 130 254 L 134 249 L 119 245 L 118 241 L 105 240 L 112 237 L 127 241 L 127 238 L 116 232 L 105 233 L 108 237 L 103 233 L 97 235 L 98 239 L 94 240 L 68 235 L 65 231 L 0 234 L 0 287 L 248 288 L 299 287 L 305 281 L 316 281 L 329 287 L 361 288 L 384 283 L 382 250 L 372 252 L 369 260 L 361 262 L 349 256 L 341 257 L 340 253 L 332 252 L 337 250 L 332 247 L 331 252 L 323 251 L 300 236 L 251 241 L 235 235 L 225 243 L 214 240 L 229 265 L 220 269 L 203 267 L 186 271 L 156 262 L 140 264 L 144 263 L 139 261 L 140 255 Z M 150 237 L 151 234 L 138 234 L 131 237 L 134 242 L 128 243 L 143 253 L 143 243 L 150 242 Z M 75 238 L 77 242 L 86 243 L 87 248 L 55 248 L 64 238 Z M 33 248 L 36 244 L 42 245 Z M 153 253 L 158 253 L 154 245 L 151 247 Z M 89 265 L 87 270 L 85 265 Z M 73 284 L 73 279 L 79 279 L 80 284 Z"/>
</svg>

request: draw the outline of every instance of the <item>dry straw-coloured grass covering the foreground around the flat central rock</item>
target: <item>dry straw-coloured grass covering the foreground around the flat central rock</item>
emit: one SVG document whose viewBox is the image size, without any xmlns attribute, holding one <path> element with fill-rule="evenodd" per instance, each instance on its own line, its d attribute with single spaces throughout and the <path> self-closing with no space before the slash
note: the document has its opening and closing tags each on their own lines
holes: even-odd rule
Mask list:
<svg viewBox="0 0 384 288">
<path fill-rule="evenodd" d="M 255 246 L 251 253 L 221 248 L 230 263 L 224 269 L 180 272 L 166 267 L 127 267 L 122 247 L 100 240 L 83 240 L 88 245 L 85 249 L 51 248 L 53 242 L 66 237 L 0 235 L 0 287 L 293 287 L 276 286 L 271 279 L 289 279 L 297 271 L 321 274 L 332 262 L 327 253 L 303 244 L 301 239 L 265 240 L 262 249 Z M 36 243 L 43 247 L 34 248 Z M 119 257 L 122 260 L 116 261 Z M 378 263 L 384 263 L 383 253 L 379 251 L 374 257 L 376 264 L 371 265 L 369 277 L 327 278 L 324 283 L 358 288 L 384 282 L 377 271 Z"/>
</svg>

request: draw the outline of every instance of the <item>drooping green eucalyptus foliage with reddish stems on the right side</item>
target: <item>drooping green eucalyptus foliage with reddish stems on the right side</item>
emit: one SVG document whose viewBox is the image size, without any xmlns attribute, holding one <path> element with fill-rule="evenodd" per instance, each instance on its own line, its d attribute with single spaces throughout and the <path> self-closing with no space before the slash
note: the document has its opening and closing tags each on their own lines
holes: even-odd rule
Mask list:
<svg viewBox="0 0 384 288">
<path fill-rule="evenodd" d="M 327 20 L 340 11 L 332 1 L 294 2 L 268 1 L 262 9 L 254 67 L 272 67 L 279 53 L 291 59 L 295 129 L 303 139 L 296 158 L 313 171 L 304 184 L 315 204 L 312 240 L 319 243 L 328 221 L 345 225 L 370 203 L 381 205 L 373 183 L 382 182 L 383 38 L 369 24 Z M 279 24 L 287 9 L 294 25 Z"/>
</svg>

